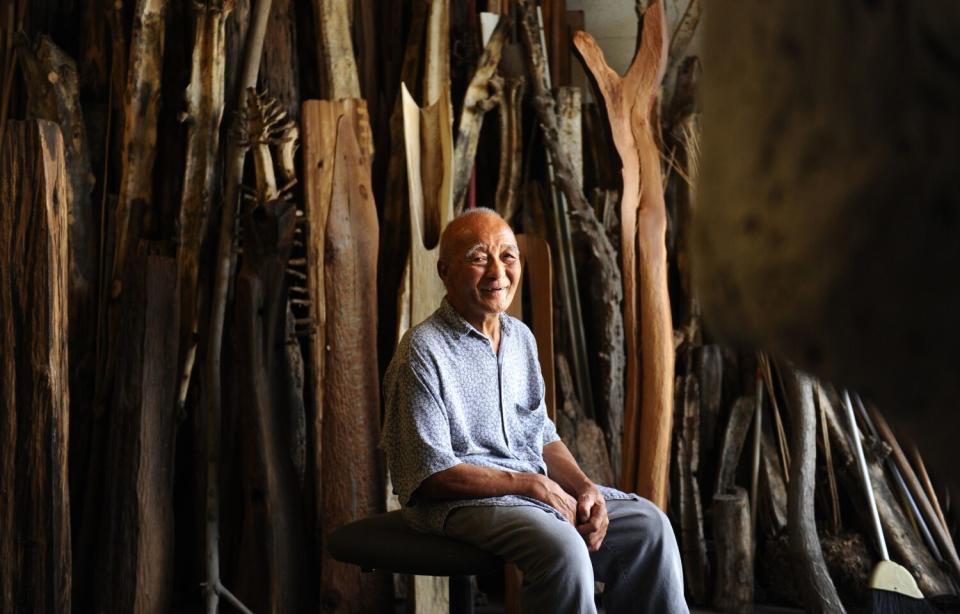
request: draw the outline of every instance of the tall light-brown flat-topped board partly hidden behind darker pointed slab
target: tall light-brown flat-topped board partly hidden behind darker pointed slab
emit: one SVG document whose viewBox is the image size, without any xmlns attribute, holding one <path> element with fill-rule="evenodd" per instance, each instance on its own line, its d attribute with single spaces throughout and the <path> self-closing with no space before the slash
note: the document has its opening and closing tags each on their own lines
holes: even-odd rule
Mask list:
<svg viewBox="0 0 960 614">
<path fill-rule="evenodd" d="M 312 517 L 312 530 L 322 534 L 322 450 L 324 374 L 326 372 L 326 301 L 324 299 L 324 251 L 326 245 L 327 217 L 333 194 L 333 168 L 336 151 L 337 122 L 340 117 L 349 118 L 354 134 L 361 143 L 370 142 L 370 124 L 367 107 L 363 100 L 344 98 L 337 101 L 307 100 L 301 109 L 303 133 L 304 215 L 307 219 L 307 292 L 314 319 L 309 337 L 309 373 L 306 386 L 312 402 L 307 407 L 308 482 L 312 500 L 308 504 L 308 516 Z M 372 150 L 368 148 L 370 154 Z M 309 521 L 308 521 L 309 522 Z"/>
</svg>

